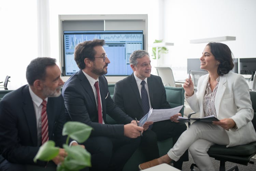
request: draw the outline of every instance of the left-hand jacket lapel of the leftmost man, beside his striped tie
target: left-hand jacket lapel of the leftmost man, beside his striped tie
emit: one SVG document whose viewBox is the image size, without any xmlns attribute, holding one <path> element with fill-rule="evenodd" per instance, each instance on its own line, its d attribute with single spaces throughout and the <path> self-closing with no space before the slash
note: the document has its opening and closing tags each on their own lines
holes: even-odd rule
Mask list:
<svg viewBox="0 0 256 171">
<path fill-rule="evenodd" d="M 28 85 L 23 89 L 23 112 L 29 127 L 30 137 L 33 145 L 37 146 L 37 120 L 32 98 L 30 96 Z"/>
</svg>

